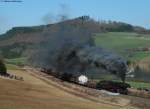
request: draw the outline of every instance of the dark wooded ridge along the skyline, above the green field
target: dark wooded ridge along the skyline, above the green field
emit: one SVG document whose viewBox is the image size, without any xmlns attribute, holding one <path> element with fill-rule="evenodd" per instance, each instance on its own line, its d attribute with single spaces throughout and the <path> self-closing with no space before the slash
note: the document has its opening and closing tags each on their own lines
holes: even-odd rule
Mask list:
<svg viewBox="0 0 150 109">
<path fill-rule="evenodd" d="M 83 32 L 84 31 L 84 32 Z M 95 21 L 82 16 L 63 22 L 35 27 L 14 27 L 0 36 L 0 54 L 5 58 L 18 58 L 34 52 L 33 48 L 44 46 L 51 36 L 62 34 L 86 36 L 101 32 L 144 32 L 144 28 L 113 21 Z M 47 35 L 49 34 L 49 35 Z"/>
</svg>

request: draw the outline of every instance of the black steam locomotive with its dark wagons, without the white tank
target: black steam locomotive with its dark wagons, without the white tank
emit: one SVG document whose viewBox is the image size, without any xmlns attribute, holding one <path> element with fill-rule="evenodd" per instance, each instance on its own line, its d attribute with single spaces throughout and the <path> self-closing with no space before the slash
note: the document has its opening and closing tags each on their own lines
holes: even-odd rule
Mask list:
<svg viewBox="0 0 150 109">
<path fill-rule="evenodd" d="M 85 84 L 81 84 L 78 81 L 78 77 L 79 76 L 75 76 L 71 73 L 61 73 L 61 72 L 54 72 L 51 69 L 42 69 L 42 72 L 49 74 L 51 76 L 54 76 L 56 78 L 59 78 L 63 81 L 68 81 L 74 84 L 78 84 L 78 85 L 82 85 L 85 87 L 89 87 L 89 88 L 94 88 L 94 89 L 98 89 L 98 90 L 107 90 L 113 93 L 120 93 L 120 94 L 128 94 L 128 90 L 127 88 L 130 88 L 131 86 L 127 83 L 123 83 L 123 82 L 116 82 L 116 81 L 100 81 L 100 82 L 94 82 L 94 81 L 90 81 L 88 80 L 88 82 L 86 82 Z"/>
</svg>

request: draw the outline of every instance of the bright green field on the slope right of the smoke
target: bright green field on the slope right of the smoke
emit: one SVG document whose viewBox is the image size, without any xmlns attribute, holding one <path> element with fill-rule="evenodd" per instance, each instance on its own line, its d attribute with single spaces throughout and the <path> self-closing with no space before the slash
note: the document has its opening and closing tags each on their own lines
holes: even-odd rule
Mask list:
<svg viewBox="0 0 150 109">
<path fill-rule="evenodd" d="M 94 38 L 97 46 L 117 52 L 126 59 L 139 61 L 145 57 L 150 57 L 150 52 L 132 52 L 132 50 L 128 50 L 138 47 L 150 47 L 150 34 L 108 32 L 96 34 Z"/>
</svg>

